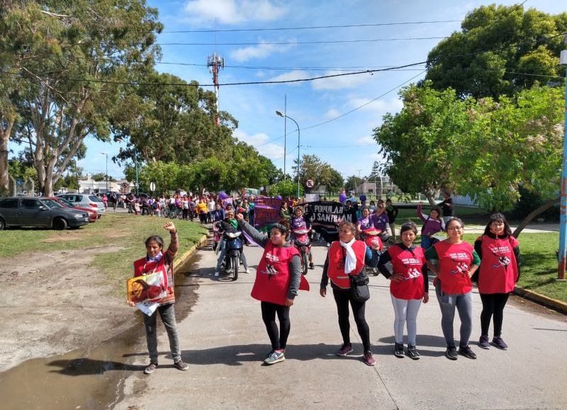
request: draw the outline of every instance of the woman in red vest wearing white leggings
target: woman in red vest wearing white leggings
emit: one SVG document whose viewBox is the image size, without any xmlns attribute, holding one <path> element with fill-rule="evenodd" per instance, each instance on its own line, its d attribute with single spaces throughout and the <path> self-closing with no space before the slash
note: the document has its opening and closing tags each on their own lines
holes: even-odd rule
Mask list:
<svg viewBox="0 0 567 410">
<path fill-rule="evenodd" d="M 421 301 L 430 300 L 429 280 L 425 266 L 424 249 L 415 246 L 413 241 L 417 235 L 417 227 L 413 222 L 405 222 L 400 229 L 399 244 L 391 246 L 381 254 L 378 270 L 390 279 L 390 294 L 394 307 L 394 354 L 398 358 L 405 357 L 403 351 L 403 327 L 408 322 L 408 357 L 413 360 L 420 358 L 415 348 L 417 334 L 417 312 Z M 386 263 L 391 262 L 393 270 L 389 271 Z"/>
</svg>

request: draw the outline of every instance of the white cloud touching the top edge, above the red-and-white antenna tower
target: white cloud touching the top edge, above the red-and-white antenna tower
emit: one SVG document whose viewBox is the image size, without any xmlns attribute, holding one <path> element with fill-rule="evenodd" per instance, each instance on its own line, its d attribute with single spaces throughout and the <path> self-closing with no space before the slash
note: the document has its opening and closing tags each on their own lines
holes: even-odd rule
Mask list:
<svg viewBox="0 0 567 410">
<path fill-rule="evenodd" d="M 286 8 L 269 0 L 191 0 L 185 4 L 184 11 L 186 19 L 194 25 L 209 24 L 215 18 L 227 25 L 274 21 L 286 14 Z"/>
</svg>

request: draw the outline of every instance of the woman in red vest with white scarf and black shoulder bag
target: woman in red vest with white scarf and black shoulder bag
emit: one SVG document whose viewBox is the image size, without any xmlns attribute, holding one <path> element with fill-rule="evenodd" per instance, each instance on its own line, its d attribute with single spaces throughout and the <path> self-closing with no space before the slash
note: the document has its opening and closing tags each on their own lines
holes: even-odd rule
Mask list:
<svg viewBox="0 0 567 410">
<path fill-rule="evenodd" d="M 342 346 L 337 351 L 337 355 L 346 356 L 352 352 L 350 343 L 350 324 L 349 324 L 349 303 L 352 307 L 354 321 L 362 339 L 364 347 L 363 360 L 366 365 L 374 366 L 376 361 L 370 350 L 370 329 L 364 317 L 366 301 L 357 302 L 352 297 L 349 275 L 366 276 L 364 264 L 375 267 L 378 263 L 379 244 L 376 242 L 374 249 L 370 249 L 364 241 L 357 241 L 357 227 L 351 222 L 343 222 L 339 226 L 339 241 L 332 242 L 323 274 L 321 277 L 320 295 L 327 295 L 327 283 L 331 280 L 332 294 L 337 303 L 339 314 L 339 328 L 342 335 Z"/>
</svg>

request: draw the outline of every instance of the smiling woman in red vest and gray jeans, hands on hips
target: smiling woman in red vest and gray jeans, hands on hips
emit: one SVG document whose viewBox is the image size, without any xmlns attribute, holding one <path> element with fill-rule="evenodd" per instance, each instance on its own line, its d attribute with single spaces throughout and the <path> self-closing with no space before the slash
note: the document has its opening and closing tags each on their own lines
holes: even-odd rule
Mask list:
<svg viewBox="0 0 567 410">
<path fill-rule="evenodd" d="M 478 269 L 481 258 L 473 246 L 463 241 L 463 221 L 451 218 L 447 222 L 447 236 L 444 241 L 433 244 L 425 251 L 427 267 L 435 274 L 433 285 L 441 308 L 441 328 L 447 351 L 445 355 L 450 360 L 456 360 L 457 355 L 453 337 L 453 321 L 455 308 L 461 319 L 461 338 L 459 354 L 469 359 L 476 359 L 476 354 L 468 346 L 468 339 L 473 329 L 473 285 L 471 276 Z M 432 260 L 439 261 L 438 267 Z"/>
</svg>

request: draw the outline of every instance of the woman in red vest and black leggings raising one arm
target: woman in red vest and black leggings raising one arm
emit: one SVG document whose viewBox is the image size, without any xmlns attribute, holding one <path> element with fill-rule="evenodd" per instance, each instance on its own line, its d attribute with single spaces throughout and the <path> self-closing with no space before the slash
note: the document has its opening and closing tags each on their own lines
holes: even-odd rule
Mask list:
<svg viewBox="0 0 567 410">
<path fill-rule="evenodd" d="M 298 290 L 309 290 L 309 284 L 301 275 L 299 252 L 288 242 L 290 227 L 286 220 L 274 224 L 267 238 L 246 222 L 242 214 L 236 219 L 240 228 L 264 248 L 250 295 L 261 302 L 262 320 L 271 342 L 271 351 L 264 363 L 273 365 L 286 360 L 284 353 L 291 329 L 289 308 Z M 276 313 L 280 329 L 276 324 Z"/>
</svg>

